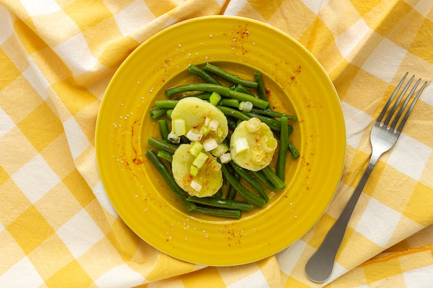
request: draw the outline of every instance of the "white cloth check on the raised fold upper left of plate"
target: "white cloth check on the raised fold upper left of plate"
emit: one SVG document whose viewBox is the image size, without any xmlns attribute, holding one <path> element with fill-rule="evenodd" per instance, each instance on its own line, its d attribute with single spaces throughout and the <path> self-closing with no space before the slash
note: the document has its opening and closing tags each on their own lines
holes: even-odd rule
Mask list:
<svg viewBox="0 0 433 288">
<path fill-rule="evenodd" d="M 93 57 L 86 39 L 81 33 L 53 48 L 74 76 L 82 75 L 93 68 L 98 59 Z"/>
</svg>

